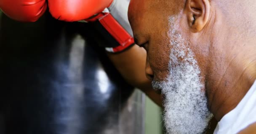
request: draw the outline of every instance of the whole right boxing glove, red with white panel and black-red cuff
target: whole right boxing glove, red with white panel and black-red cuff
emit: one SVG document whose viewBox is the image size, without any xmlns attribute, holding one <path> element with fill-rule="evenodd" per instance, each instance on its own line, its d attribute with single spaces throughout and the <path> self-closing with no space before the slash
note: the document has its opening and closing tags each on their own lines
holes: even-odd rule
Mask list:
<svg viewBox="0 0 256 134">
<path fill-rule="evenodd" d="M 107 40 L 108 52 L 123 52 L 134 44 L 128 22 L 128 0 L 48 0 L 51 15 L 62 21 L 92 22 Z"/>
</svg>

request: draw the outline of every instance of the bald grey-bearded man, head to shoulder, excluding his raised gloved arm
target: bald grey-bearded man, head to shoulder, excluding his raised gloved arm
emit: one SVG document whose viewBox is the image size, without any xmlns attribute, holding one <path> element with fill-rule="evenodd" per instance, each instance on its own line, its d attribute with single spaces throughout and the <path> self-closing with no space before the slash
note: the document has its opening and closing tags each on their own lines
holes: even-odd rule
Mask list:
<svg viewBox="0 0 256 134">
<path fill-rule="evenodd" d="M 215 134 L 256 133 L 255 13 L 254 0 L 131 0 L 168 134 L 200 134 L 213 116 Z"/>
</svg>

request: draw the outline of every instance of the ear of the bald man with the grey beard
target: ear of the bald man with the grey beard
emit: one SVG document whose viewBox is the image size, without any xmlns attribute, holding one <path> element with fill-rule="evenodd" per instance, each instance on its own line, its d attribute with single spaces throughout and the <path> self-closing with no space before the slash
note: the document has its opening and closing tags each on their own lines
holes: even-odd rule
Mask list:
<svg viewBox="0 0 256 134">
<path fill-rule="evenodd" d="M 187 0 L 185 11 L 192 32 L 200 32 L 209 20 L 210 2 L 209 0 Z"/>
</svg>

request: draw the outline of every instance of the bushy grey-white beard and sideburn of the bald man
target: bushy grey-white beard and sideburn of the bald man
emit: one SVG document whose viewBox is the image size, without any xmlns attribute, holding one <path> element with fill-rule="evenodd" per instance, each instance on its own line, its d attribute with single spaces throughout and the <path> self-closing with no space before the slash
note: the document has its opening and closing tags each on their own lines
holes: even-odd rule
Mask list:
<svg viewBox="0 0 256 134">
<path fill-rule="evenodd" d="M 205 87 L 194 54 L 178 30 L 177 17 L 169 18 L 171 53 L 166 80 L 152 82 L 165 96 L 163 120 L 167 134 L 202 134 L 212 118 Z"/>
</svg>

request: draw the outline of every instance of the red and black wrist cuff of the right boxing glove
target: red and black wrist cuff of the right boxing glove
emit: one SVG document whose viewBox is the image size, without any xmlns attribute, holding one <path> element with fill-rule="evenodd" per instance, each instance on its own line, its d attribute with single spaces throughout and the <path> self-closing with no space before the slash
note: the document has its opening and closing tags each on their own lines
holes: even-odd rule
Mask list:
<svg viewBox="0 0 256 134">
<path fill-rule="evenodd" d="M 104 44 L 107 52 L 123 52 L 134 45 L 133 37 L 117 22 L 107 8 L 85 21 L 93 22 L 96 30 L 107 40 Z"/>
</svg>

